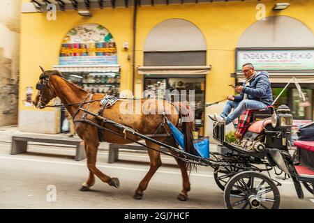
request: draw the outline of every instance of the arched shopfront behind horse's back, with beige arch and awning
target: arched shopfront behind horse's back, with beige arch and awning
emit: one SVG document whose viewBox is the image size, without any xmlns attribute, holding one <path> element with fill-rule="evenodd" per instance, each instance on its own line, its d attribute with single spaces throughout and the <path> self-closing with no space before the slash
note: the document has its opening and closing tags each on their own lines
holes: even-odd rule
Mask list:
<svg viewBox="0 0 314 223">
<path fill-rule="evenodd" d="M 199 136 L 204 136 L 205 82 L 210 70 L 206 56 L 200 29 L 187 20 L 170 19 L 150 31 L 144 43 L 144 66 L 138 68 L 144 75 L 144 97 L 167 99 L 167 90 L 177 90 L 181 97 L 183 92 L 195 91 L 195 134 Z"/>
</svg>

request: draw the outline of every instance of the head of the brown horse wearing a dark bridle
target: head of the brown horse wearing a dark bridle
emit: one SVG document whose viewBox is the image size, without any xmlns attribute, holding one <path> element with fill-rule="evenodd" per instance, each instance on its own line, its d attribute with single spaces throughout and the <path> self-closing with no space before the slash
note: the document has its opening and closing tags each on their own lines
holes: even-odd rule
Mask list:
<svg viewBox="0 0 314 223">
<path fill-rule="evenodd" d="M 45 70 L 40 66 L 40 69 L 43 71 L 39 76 L 39 81 L 36 84 L 36 89 L 38 93 L 35 100 L 33 100 L 33 105 L 38 109 L 43 109 L 53 98 L 56 98 L 57 95 L 54 93 L 54 89 L 50 84 L 50 77 L 57 75 L 62 77 L 62 73 L 58 70 Z"/>
</svg>

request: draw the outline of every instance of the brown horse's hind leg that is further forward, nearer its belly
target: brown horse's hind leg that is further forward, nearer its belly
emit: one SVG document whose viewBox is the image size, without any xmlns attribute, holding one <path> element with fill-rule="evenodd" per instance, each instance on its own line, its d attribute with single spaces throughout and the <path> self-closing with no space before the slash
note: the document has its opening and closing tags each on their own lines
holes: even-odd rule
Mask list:
<svg viewBox="0 0 314 223">
<path fill-rule="evenodd" d="M 152 143 L 151 141 L 145 140 L 147 146 L 151 146 L 152 148 L 160 149 L 160 146 Z M 142 199 L 144 190 L 147 189 L 149 184 L 149 180 L 154 176 L 157 169 L 161 166 L 160 153 L 158 151 L 154 151 L 150 148 L 147 149 L 150 159 L 150 168 L 147 174 L 144 176 L 137 189 L 135 190 L 135 194 L 133 196 L 134 199 Z"/>
</svg>

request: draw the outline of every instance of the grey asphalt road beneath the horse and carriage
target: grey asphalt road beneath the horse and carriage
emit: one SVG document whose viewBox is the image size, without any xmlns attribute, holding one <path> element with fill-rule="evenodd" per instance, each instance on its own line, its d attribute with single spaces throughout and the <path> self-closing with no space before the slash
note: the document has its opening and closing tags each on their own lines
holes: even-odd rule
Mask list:
<svg viewBox="0 0 314 223">
<path fill-rule="evenodd" d="M 33 145 L 28 153 L 9 155 L 10 144 L 0 144 L 0 208 L 225 208 L 210 167 L 194 171 L 188 201 L 177 200 L 181 173 L 165 155 L 142 200 L 133 199 L 133 193 L 149 169 L 145 153 L 122 152 L 118 162 L 108 164 L 107 151 L 98 151 L 98 168 L 118 177 L 121 186 L 116 189 L 97 178 L 92 190 L 81 192 L 89 171 L 86 160 L 73 160 L 74 153 L 69 147 Z M 313 195 L 304 190 L 305 199 L 299 200 L 292 181 L 282 183 L 281 208 L 314 209 Z"/>
</svg>

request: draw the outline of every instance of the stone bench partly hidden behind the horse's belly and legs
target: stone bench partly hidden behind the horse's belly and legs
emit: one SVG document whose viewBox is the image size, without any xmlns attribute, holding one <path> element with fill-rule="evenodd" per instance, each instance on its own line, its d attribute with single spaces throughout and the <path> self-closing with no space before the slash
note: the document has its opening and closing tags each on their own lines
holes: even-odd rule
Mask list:
<svg viewBox="0 0 314 223">
<path fill-rule="evenodd" d="M 114 163 L 119 158 L 119 149 L 133 150 L 133 151 L 147 151 L 147 148 L 137 144 L 109 144 L 109 154 L 108 154 L 108 163 Z M 164 147 L 160 147 L 161 151 L 167 152 L 168 150 Z"/>
</svg>

